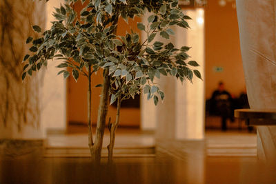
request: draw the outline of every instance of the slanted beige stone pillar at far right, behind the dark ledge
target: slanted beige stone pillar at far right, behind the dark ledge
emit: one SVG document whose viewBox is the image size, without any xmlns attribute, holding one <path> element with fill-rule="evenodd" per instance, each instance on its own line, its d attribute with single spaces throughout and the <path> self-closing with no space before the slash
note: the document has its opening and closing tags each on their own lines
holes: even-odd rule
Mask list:
<svg viewBox="0 0 276 184">
<path fill-rule="evenodd" d="M 250 108 L 276 110 L 276 1 L 237 0 Z M 257 156 L 276 161 L 276 126 L 257 127 Z"/>
</svg>

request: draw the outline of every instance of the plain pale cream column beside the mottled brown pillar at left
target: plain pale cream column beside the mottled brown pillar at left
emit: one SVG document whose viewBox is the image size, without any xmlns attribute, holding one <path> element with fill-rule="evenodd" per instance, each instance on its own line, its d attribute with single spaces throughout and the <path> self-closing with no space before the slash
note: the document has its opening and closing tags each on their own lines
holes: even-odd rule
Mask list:
<svg viewBox="0 0 276 184">
<path fill-rule="evenodd" d="M 55 7 L 59 8 L 63 0 L 48 1 L 47 4 L 47 24 L 46 29 L 52 26 L 51 21 L 55 21 L 52 12 Z M 66 81 L 62 75 L 57 76 L 60 68 L 56 68 L 58 62 L 48 61 L 48 66 L 43 83 L 43 105 L 41 121 L 45 131 L 65 131 L 66 130 Z"/>
</svg>

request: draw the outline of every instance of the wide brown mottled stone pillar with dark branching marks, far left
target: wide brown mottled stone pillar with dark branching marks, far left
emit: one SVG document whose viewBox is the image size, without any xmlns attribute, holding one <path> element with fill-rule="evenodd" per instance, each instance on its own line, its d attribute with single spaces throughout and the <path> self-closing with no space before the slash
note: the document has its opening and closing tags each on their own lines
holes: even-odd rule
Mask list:
<svg viewBox="0 0 276 184">
<path fill-rule="evenodd" d="M 37 37 L 31 25 L 45 29 L 43 1 L 0 1 L 0 139 L 41 139 L 43 72 L 21 81 L 26 39 Z"/>
</svg>

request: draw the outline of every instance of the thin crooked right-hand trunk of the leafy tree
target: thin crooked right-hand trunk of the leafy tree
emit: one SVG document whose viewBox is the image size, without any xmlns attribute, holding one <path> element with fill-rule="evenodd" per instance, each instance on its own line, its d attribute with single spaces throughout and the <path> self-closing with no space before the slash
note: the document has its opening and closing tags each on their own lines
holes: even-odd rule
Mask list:
<svg viewBox="0 0 276 184">
<path fill-rule="evenodd" d="M 121 108 L 121 96 L 117 99 L 117 114 L 116 114 L 116 121 L 115 124 L 110 124 L 109 131 L 110 131 L 110 143 L 108 145 L 108 162 L 112 162 L 112 156 L 113 156 L 113 148 L 115 144 L 115 132 L 119 125 L 119 119 L 120 119 L 120 108 Z"/>
</svg>

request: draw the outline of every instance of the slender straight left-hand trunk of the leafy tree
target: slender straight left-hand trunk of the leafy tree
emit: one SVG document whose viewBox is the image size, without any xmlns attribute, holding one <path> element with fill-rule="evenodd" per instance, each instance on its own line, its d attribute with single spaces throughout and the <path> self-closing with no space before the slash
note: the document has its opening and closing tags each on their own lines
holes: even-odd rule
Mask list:
<svg viewBox="0 0 276 184">
<path fill-rule="evenodd" d="M 92 122 L 91 122 L 91 65 L 88 68 L 88 93 L 87 93 L 87 103 L 88 103 L 88 145 L 90 150 L 93 146 L 93 134 L 92 134 Z M 90 152 L 92 154 L 92 152 Z"/>
</svg>

